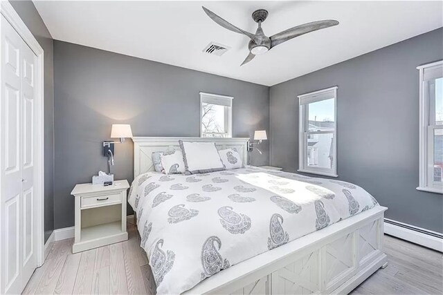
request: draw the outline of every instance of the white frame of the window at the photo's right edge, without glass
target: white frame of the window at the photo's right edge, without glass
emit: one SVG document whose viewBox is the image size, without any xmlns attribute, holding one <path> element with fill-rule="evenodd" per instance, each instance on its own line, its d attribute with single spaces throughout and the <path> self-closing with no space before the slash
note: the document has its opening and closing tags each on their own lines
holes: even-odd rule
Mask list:
<svg viewBox="0 0 443 295">
<path fill-rule="evenodd" d="M 443 130 L 443 125 L 435 124 L 435 102 L 431 102 L 429 93 L 429 83 L 443 77 L 443 61 L 418 66 L 417 70 L 419 70 L 419 186 L 417 190 L 443 194 L 443 183 L 433 181 L 434 131 Z M 427 79 L 426 75 L 435 77 Z M 430 110 L 432 106 L 433 111 Z M 434 120 L 434 124 L 431 124 L 431 120 Z"/>
</svg>

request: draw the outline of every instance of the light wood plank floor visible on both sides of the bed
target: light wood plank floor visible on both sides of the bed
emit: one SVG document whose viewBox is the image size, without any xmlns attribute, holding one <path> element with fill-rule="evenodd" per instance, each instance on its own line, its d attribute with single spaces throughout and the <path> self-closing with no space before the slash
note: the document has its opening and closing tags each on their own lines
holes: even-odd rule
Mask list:
<svg viewBox="0 0 443 295">
<path fill-rule="evenodd" d="M 24 294 L 155 294 L 140 236 L 128 224 L 129 240 L 72 254 L 73 239 L 54 242 Z M 443 255 L 385 236 L 388 267 L 352 294 L 443 294 Z"/>
</svg>

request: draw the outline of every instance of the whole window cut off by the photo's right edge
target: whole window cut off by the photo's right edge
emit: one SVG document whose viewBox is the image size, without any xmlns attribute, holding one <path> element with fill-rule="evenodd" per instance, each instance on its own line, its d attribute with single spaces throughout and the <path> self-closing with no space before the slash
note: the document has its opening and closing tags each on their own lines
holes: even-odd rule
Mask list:
<svg viewBox="0 0 443 295">
<path fill-rule="evenodd" d="M 443 61 L 419 66 L 419 187 L 443 193 Z"/>
</svg>

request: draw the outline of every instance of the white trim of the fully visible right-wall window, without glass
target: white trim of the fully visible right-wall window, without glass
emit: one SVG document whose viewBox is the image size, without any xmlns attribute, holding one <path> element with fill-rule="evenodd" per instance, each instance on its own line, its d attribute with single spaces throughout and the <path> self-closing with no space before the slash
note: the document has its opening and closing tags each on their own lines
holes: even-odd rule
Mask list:
<svg viewBox="0 0 443 295">
<path fill-rule="evenodd" d="M 324 175 L 329 177 L 338 177 L 337 174 L 337 89 L 338 86 L 322 89 L 320 91 L 314 91 L 311 93 L 305 93 L 302 95 L 298 95 L 298 105 L 299 105 L 299 124 L 298 124 L 298 170 L 299 172 L 304 173 L 312 173 L 318 175 Z M 334 142 L 332 143 L 334 146 L 333 160 L 332 160 L 332 169 L 325 169 L 319 167 L 309 167 L 305 162 L 307 162 L 307 149 L 305 146 L 305 142 L 307 142 L 307 133 L 305 133 L 306 126 L 306 108 L 305 105 L 311 102 L 317 102 L 323 99 L 318 99 L 319 96 L 334 91 Z M 316 99 L 317 97 L 317 99 Z M 302 104 L 305 102 L 305 104 Z M 309 118 L 308 118 L 309 120 Z M 312 133 L 312 132 L 311 132 Z M 316 133 L 331 133 L 330 131 L 317 131 Z M 305 161 L 306 160 L 306 161 Z"/>
</svg>

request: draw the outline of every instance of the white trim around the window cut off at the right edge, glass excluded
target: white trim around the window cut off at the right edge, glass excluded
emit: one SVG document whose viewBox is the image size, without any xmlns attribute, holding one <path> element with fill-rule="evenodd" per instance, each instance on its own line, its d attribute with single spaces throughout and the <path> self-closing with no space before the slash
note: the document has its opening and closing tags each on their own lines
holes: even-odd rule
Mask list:
<svg viewBox="0 0 443 295">
<path fill-rule="evenodd" d="M 435 184 L 433 180 L 433 144 L 429 144 L 431 133 L 435 125 L 429 125 L 429 97 L 428 80 L 425 79 L 425 70 L 431 68 L 443 68 L 443 61 L 418 66 L 419 70 L 419 191 L 443 194 L 443 186 Z M 439 128 L 440 129 L 440 128 Z M 432 163 L 431 163 L 432 162 Z"/>
</svg>

